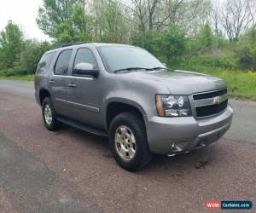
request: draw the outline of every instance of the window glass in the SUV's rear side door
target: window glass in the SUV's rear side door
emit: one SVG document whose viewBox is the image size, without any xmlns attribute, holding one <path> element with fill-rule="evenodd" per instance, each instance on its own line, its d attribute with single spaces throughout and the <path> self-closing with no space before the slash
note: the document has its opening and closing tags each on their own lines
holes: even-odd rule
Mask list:
<svg viewBox="0 0 256 213">
<path fill-rule="evenodd" d="M 61 52 L 55 65 L 56 75 L 67 75 L 71 54 L 72 54 L 72 49 L 67 49 Z"/>
</svg>

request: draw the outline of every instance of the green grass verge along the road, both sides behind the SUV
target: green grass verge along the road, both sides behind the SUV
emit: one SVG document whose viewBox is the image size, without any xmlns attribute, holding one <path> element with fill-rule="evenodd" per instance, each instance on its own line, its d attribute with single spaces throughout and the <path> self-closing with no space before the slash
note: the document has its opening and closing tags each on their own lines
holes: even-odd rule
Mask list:
<svg viewBox="0 0 256 213">
<path fill-rule="evenodd" d="M 233 97 L 241 99 L 250 99 L 256 101 L 256 72 L 232 71 L 227 69 L 213 69 L 207 67 L 178 67 L 184 70 L 194 70 L 195 72 L 203 72 L 208 75 L 216 76 L 224 79 L 228 83 L 229 94 Z M 33 81 L 33 75 L 24 76 L 0 76 L 0 79 Z"/>
</svg>

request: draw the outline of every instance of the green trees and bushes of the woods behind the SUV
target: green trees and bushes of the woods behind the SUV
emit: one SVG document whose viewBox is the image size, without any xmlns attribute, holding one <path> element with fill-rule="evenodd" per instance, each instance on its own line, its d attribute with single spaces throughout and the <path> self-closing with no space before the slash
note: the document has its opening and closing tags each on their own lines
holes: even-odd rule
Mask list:
<svg viewBox="0 0 256 213">
<path fill-rule="evenodd" d="M 217 2 L 44 0 L 37 22 L 52 42 L 26 40 L 10 20 L 0 34 L 0 75 L 33 73 L 44 51 L 74 41 L 130 43 L 171 68 L 256 71 L 256 1 Z"/>
</svg>

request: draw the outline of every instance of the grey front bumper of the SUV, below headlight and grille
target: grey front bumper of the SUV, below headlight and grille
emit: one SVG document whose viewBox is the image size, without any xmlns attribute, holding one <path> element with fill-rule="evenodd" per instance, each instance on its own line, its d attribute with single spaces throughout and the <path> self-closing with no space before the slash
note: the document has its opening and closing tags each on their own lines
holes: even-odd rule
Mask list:
<svg viewBox="0 0 256 213">
<path fill-rule="evenodd" d="M 172 155 L 206 147 L 230 129 L 232 117 L 230 106 L 213 118 L 153 117 L 146 122 L 149 149 L 152 153 Z"/>
</svg>

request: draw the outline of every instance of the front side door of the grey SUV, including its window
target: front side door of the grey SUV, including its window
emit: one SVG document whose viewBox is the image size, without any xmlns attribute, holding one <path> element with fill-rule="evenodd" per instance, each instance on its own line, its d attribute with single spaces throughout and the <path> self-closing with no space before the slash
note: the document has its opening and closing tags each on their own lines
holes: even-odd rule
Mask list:
<svg viewBox="0 0 256 213">
<path fill-rule="evenodd" d="M 79 48 L 73 61 L 73 67 L 79 63 L 90 63 L 98 69 L 95 55 L 89 48 Z M 73 70 L 73 69 L 72 69 Z M 100 107 L 102 106 L 102 76 L 75 75 L 71 72 L 68 78 L 68 104 L 71 107 L 69 116 L 73 119 L 92 126 L 102 125 Z"/>
</svg>

